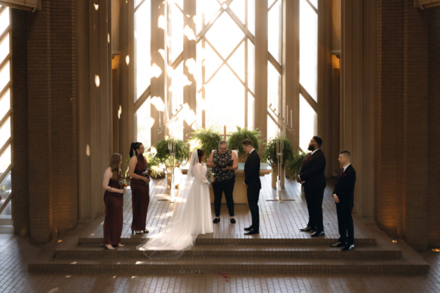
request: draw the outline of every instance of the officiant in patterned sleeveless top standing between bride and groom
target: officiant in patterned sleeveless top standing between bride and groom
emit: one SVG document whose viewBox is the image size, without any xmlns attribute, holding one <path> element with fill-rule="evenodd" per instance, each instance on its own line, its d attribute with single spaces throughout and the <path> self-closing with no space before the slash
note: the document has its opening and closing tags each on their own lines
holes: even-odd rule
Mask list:
<svg viewBox="0 0 440 293">
<path fill-rule="evenodd" d="M 228 143 L 223 140 L 219 143 L 219 150 L 215 150 L 209 156 L 206 167 L 212 168 L 215 182 L 212 183 L 214 190 L 214 224 L 220 222 L 221 198 L 223 192 L 228 206 L 230 222 L 235 224 L 234 219 L 234 193 L 235 170 L 239 167 L 239 160 L 232 150 L 228 150 Z"/>
</svg>

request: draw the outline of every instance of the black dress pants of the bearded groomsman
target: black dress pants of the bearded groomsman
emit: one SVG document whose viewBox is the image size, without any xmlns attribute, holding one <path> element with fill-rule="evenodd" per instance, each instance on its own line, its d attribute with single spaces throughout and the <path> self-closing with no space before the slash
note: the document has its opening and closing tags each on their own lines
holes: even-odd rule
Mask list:
<svg viewBox="0 0 440 293">
<path fill-rule="evenodd" d="M 307 226 L 315 227 L 316 231 L 324 231 L 322 219 L 322 200 L 324 199 L 324 188 L 304 188 L 305 201 L 309 211 L 309 222 Z"/>
</svg>

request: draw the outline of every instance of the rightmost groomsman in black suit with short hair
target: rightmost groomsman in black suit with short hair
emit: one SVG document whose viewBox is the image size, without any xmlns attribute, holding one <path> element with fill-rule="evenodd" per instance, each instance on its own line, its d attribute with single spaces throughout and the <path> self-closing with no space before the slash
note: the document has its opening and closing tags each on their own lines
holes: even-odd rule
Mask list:
<svg viewBox="0 0 440 293">
<path fill-rule="evenodd" d="M 333 199 L 336 202 L 338 214 L 339 241 L 331 244 L 331 247 L 342 247 L 341 250 L 352 250 L 354 245 L 354 225 L 351 211 L 355 193 L 356 171 L 350 163 L 350 152 L 343 150 L 339 153 L 339 163 L 342 168 L 338 173 L 338 182 L 333 190 Z"/>
</svg>

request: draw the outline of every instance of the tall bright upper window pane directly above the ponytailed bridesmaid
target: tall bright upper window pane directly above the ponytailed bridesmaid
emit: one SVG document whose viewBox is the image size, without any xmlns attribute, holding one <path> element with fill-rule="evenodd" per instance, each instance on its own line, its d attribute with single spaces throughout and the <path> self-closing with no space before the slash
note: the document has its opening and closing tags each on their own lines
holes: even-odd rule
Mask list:
<svg viewBox="0 0 440 293">
<path fill-rule="evenodd" d="M 150 85 L 150 10 L 150 1 L 145 1 L 135 12 L 135 99 L 138 99 Z"/>
</svg>

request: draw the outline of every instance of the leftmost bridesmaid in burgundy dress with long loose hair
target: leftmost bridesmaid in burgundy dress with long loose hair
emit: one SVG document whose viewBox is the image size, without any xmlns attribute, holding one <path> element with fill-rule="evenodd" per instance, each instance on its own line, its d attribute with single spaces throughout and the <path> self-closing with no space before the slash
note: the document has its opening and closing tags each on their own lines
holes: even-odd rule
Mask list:
<svg viewBox="0 0 440 293">
<path fill-rule="evenodd" d="M 125 194 L 125 189 L 120 189 L 119 185 L 119 180 L 122 178 L 121 165 L 122 156 L 113 154 L 109 167 L 104 172 L 104 180 L 102 180 L 102 188 L 105 190 L 104 246 L 107 249 L 115 249 L 113 246 L 124 246 L 120 242 Z"/>
</svg>

